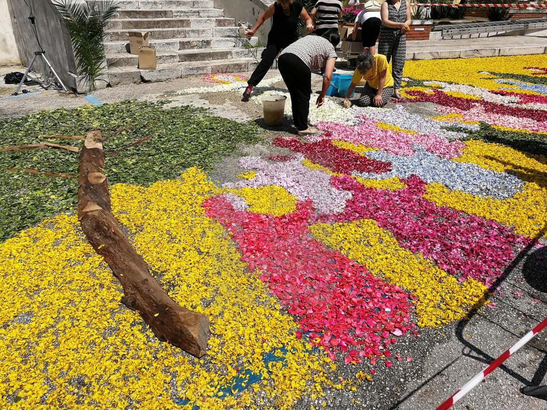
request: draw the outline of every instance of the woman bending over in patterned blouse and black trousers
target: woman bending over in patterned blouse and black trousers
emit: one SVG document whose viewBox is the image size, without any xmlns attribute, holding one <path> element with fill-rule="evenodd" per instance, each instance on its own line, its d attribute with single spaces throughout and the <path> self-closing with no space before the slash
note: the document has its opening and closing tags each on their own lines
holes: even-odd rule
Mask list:
<svg viewBox="0 0 547 410">
<path fill-rule="evenodd" d="M 323 88 L 317 97 L 317 107 L 325 102 L 325 95 L 333 77 L 336 61 L 335 47 L 340 42 L 337 30 L 329 30 L 321 37 L 306 36 L 283 50 L 278 66 L 290 93 L 294 126 L 299 135 L 315 134 L 317 130 L 307 122 L 310 113 L 311 72 L 325 66 Z M 386 58 L 386 57 L 384 57 Z"/>
</svg>

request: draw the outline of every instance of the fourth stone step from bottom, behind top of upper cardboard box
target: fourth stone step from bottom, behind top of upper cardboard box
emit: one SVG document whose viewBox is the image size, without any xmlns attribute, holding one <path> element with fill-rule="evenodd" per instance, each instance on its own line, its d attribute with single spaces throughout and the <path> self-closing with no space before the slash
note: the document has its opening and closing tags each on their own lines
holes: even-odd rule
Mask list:
<svg viewBox="0 0 547 410">
<path fill-rule="evenodd" d="M 131 31 L 148 31 L 149 39 L 165 40 L 173 38 L 206 38 L 206 37 L 235 37 L 238 34 L 238 27 L 211 27 L 211 28 L 135 28 Z M 129 40 L 127 30 L 106 30 L 104 31 L 105 42 L 116 42 Z"/>
</svg>

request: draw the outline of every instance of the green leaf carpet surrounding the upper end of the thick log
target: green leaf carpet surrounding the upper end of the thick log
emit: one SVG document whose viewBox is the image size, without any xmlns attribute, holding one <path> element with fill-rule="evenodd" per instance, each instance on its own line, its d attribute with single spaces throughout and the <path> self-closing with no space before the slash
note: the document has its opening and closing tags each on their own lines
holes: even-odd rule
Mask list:
<svg viewBox="0 0 547 410">
<path fill-rule="evenodd" d="M 53 142 L 81 148 L 83 140 L 46 139 L 40 135 L 85 136 L 101 128 L 104 153 L 137 140 L 150 140 L 107 156 L 109 184 L 149 185 L 176 179 L 189 167 L 210 169 L 238 143 L 260 140 L 259 128 L 211 116 L 206 109 L 165 109 L 164 103 L 124 101 L 103 106 L 55 109 L 0 120 L 0 148 Z M 70 125 L 73 127 L 65 127 Z M 79 154 L 60 149 L 0 152 L 0 242 L 37 222 L 71 209 L 77 201 L 77 180 L 29 175 L 6 168 L 78 175 Z"/>
</svg>

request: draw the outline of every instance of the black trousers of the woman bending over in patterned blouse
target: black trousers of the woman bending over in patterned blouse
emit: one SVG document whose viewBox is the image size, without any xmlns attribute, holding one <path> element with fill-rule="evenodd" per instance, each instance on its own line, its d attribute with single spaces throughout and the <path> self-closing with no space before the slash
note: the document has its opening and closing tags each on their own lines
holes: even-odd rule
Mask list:
<svg viewBox="0 0 547 410">
<path fill-rule="evenodd" d="M 294 54 L 283 54 L 277 60 L 279 71 L 285 85 L 289 89 L 293 105 L 294 126 L 298 131 L 307 130 L 308 114 L 310 114 L 311 70 L 304 61 Z"/>
</svg>

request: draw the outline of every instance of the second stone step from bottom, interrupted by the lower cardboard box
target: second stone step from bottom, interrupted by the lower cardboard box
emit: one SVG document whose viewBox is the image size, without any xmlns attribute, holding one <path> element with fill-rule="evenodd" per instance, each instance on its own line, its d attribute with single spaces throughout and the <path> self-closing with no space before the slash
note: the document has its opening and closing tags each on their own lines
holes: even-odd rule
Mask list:
<svg viewBox="0 0 547 410">
<path fill-rule="evenodd" d="M 234 58 L 252 57 L 252 51 L 237 48 L 218 48 L 206 50 L 176 50 L 156 52 L 158 64 L 171 64 L 187 61 L 231 60 Z M 108 67 L 138 66 L 138 56 L 135 54 L 116 53 L 107 55 Z"/>
</svg>

